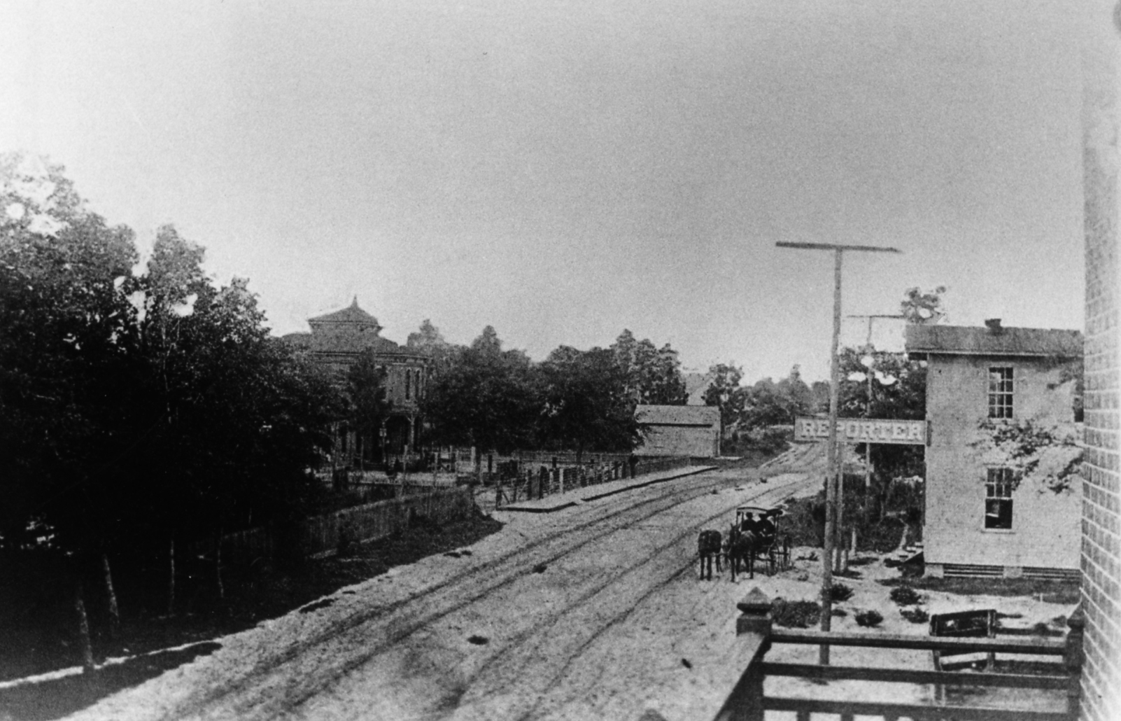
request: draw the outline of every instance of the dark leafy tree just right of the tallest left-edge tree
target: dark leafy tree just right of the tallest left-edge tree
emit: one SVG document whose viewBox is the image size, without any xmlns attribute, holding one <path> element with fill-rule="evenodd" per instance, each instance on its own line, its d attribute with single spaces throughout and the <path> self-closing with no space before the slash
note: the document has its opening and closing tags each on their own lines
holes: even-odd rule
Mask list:
<svg viewBox="0 0 1121 721">
<path fill-rule="evenodd" d="M 141 533 L 299 516 L 317 490 L 306 470 L 321 464 L 343 413 L 330 379 L 269 338 L 248 281 L 214 287 L 202 259 L 163 228 L 135 279 L 136 391 L 122 437 L 146 436 L 147 478 L 130 489 L 152 509 Z"/>
</svg>

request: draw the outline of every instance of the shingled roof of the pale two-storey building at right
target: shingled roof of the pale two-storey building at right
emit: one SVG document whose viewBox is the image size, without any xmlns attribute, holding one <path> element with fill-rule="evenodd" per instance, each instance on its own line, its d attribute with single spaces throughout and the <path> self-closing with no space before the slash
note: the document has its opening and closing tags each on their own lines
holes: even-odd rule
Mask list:
<svg viewBox="0 0 1121 721">
<path fill-rule="evenodd" d="M 916 355 L 1022 355 L 1078 358 L 1082 333 L 1037 327 L 908 325 L 907 352 Z"/>
</svg>

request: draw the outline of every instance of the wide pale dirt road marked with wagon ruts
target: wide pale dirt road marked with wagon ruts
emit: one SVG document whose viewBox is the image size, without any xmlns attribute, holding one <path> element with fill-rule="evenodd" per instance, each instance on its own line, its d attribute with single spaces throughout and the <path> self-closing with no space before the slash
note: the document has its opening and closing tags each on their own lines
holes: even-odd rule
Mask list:
<svg viewBox="0 0 1121 721">
<path fill-rule="evenodd" d="M 707 472 L 507 527 L 249 631 L 76 719 L 666 719 L 738 677 L 726 579 L 696 535 L 807 483 Z M 739 595 L 751 588 L 739 582 Z"/>
</svg>

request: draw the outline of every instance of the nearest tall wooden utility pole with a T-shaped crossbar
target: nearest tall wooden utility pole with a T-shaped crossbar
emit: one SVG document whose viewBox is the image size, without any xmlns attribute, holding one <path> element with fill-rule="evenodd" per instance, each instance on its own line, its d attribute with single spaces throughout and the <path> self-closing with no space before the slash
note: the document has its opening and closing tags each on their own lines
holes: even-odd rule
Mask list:
<svg viewBox="0 0 1121 721">
<path fill-rule="evenodd" d="M 830 344 L 830 438 L 828 475 L 825 479 L 825 543 L 822 549 L 822 630 L 828 631 L 833 619 L 833 547 L 835 545 L 837 518 L 837 491 L 841 472 L 837 453 L 837 394 L 841 385 L 841 367 L 837 363 L 837 345 L 841 341 L 841 260 L 844 251 L 854 252 L 899 252 L 897 248 L 882 246 L 840 246 L 835 243 L 775 243 L 779 248 L 799 250 L 833 251 L 833 341 Z M 818 647 L 818 663 L 827 666 L 830 647 Z"/>
</svg>

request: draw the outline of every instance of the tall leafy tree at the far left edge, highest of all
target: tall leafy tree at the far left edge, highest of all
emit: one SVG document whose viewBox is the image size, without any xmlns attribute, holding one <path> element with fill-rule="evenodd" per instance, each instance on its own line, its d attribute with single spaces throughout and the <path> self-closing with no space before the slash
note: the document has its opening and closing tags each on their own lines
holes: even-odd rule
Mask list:
<svg viewBox="0 0 1121 721">
<path fill-rule="evenodd" d="M 102 535 L 86 484 L 103 463 L 105 381 L 123 357 L 131 308 L 118 279 L 136 262 L 132 233 L 85 210 L 63 168 L 0 157 L 0 478 L 4 543 L 29 517 L 58 525 L 59 543 Z M 112 383 L 110 382 L 110 386 Z M 111 398 L 112 396 L 108 396 Z"/>
</svg>

